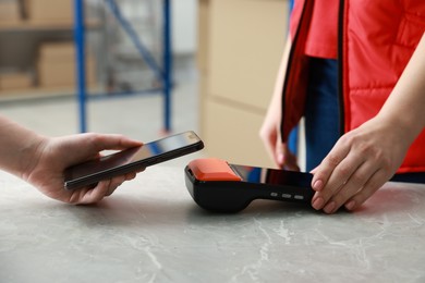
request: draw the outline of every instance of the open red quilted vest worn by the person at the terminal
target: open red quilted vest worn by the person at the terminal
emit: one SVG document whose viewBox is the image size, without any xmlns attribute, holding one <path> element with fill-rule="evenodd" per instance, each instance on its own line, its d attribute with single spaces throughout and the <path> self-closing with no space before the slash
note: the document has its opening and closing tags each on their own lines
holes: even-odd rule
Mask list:
<svg viewBox="0 0 425 283">
<path fill-rule="evenodd" d="M 282 90 L 282 140 L 287 140 L 304 112 L 308 69 L 304 50 L 313 0 L 301 1 L 303 8 L 291 19 L 293 38 Z M 390 95 L 425 32 L 425 1 L 341 0 L 340 15 L 338 84 L 342 135 L 375 116 Z M 403 172 L 425 172 L 425 131 L 409 149 L 398 171 Z"/>
</svg>

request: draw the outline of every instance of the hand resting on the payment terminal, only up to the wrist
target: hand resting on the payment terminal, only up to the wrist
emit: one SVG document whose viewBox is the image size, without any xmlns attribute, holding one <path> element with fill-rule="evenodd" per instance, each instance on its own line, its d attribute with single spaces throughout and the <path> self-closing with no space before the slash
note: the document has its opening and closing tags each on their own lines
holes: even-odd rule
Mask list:
<svg viewBox="0 0 425 283">
<path fill-rule="evenodd" d="M 406 130 L 375 118 L 343 135 L 312 171 L 313 208 L 359 208 L 398 170 L 409 149 Z"/>
</svg>

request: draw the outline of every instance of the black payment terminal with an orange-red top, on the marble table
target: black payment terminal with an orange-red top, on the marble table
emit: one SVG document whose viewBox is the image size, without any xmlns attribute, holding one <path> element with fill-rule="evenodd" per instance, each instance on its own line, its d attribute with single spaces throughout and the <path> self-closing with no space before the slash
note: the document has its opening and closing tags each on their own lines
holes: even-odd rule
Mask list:
<svg viewBox="0 0 425 283">
<path fill-rule="evenodd" d="M 195 159 L 185 167 L 185 183 L 195 202 L 210 211 L 238 212 L 254 199 L 309 204 L 313 175 L 278 169 Z"/>
</svg>

